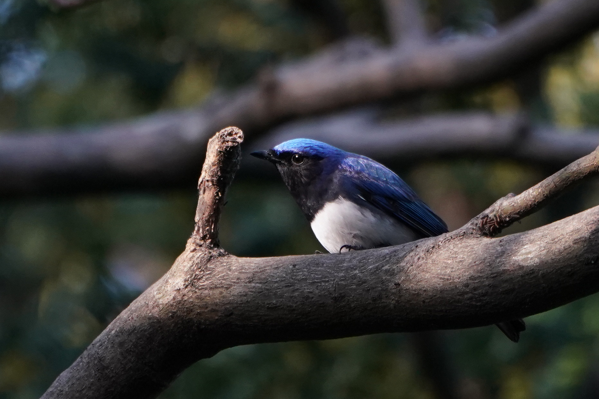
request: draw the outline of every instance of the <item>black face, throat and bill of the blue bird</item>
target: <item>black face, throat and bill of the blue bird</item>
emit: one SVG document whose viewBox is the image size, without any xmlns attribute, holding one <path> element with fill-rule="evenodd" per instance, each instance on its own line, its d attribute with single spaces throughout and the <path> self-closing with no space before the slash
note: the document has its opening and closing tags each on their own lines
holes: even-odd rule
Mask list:
<svg viewBox="0 0 599 399">
<path fill-rule="evenodd" d="M 326 158 L 289 151 L 277 153 L 274 150 L 257 151 L 251 155 L 274 163 L 291 195 L 311 220 L 327 197 L 323 191 L 328 190 L 328 180 L 332 177 L 328 173 L 323 174 Z"/>
</svg>

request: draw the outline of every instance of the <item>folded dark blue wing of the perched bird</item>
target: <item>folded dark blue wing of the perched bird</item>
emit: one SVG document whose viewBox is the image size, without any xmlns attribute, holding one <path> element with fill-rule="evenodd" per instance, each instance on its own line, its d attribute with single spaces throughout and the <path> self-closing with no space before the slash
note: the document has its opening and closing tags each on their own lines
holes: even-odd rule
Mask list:
<svg viewBox="0 0 599 399">
<path fill-rule="evenodd" d="M 400 176 L 367 157 L 346 157 L 340 163 L 341 179 L 353 200 L 397 218 L 423 236 L 446 233 L 447 225 L 432 212 Z"/>
</svg>

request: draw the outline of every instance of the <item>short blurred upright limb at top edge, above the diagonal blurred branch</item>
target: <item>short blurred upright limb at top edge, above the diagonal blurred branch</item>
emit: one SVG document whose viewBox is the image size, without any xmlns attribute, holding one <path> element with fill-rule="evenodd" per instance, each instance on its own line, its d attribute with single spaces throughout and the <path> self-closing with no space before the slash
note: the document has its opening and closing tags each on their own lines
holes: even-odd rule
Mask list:
<svg viewBox="0 0 599 399">
<path fill-rule="evenodd" d="M 419 0 L 383 0 L 389 36 L 396 46 L 422 44 L 426 25 Z"/>
</svg>

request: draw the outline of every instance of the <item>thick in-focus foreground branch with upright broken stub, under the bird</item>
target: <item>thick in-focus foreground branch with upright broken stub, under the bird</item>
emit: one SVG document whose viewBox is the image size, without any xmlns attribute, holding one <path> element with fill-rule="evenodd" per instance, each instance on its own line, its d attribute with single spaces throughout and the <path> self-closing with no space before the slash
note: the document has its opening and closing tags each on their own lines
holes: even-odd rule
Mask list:
<svg viewBox="0 0 599 399">
<path fill-rule="evenodd" d="M 229 132 L 231 140 L 211 143 L 204 178 L 228 182 L 219 173 L 234 172 L 241 135 Z M 588 161 L 568 170 L 588 176 L 594 162 Z M 558 173 L 538 190 L 549 197 L 553 187 L 567 187 L 562 179 Z M 199 202 L 214 212 L 222 203 L 223 185 L 216 186 L 200 192 L 213 199 Z M 536 201 L 523 198 L 510 206 Z M 216 224 L 208 224 L 216 234 Z M 194 233 L 167 274 L 114 319 L 44 398 L 155 397 L 185 367 L 235 345 L 475 327 L 599 291 L 599 206 L 497 239 L 464 233 L 470 224 L 461 230 L 395 247 L 278 258 L 234 257 Z"/>
</svg>

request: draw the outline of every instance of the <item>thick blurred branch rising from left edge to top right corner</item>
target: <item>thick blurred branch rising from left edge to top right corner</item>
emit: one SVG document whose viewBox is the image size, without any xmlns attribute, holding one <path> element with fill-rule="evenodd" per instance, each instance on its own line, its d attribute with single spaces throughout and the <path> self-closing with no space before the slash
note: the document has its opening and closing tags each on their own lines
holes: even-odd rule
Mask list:
<svg viewBox="0 0 599 399">
<path fill-rule="evenodd" d="M 344 42 L 264 72 L 259 83 L 201 108 L 66 135 L 0 136 L 0 197 L 191 185 L 208 135 L 222 126 L 240 126 L 252 137 L 289 118 L 485 83 L 563 48 L 598 24 L 598 2 L 557 0 L 492 38 L 404 49 Z"/>
</svg>

